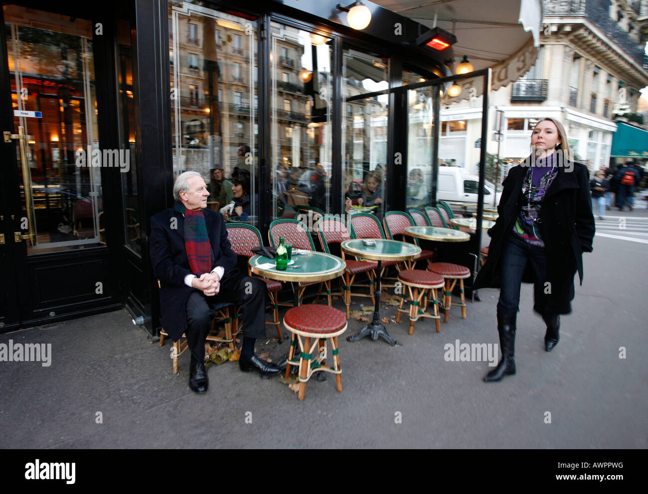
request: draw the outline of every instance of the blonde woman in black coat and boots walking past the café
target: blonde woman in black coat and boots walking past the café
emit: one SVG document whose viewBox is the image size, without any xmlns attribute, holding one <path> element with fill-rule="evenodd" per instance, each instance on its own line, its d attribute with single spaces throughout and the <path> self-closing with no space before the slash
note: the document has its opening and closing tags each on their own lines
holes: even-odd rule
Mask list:
<svg viewBox="0 0 648 494">
<path fill-rule="evenodd" d="M 529 166 L 530 165 L 530 166 Z M 531 156 L 511 168 L 502 183 L 499 216 L 488 231 L 489 256 L 474 289 L 500 288 L 497 329 L 502 360 L 484 377 L 515 374 L 515 331 L 520 285 L 534 283 L 533 310 L 546 324 L 547 352 L 559 341 L 560 315 L 572 311 L 573 277 L 583 284 L 584 252 L 592 252 L 594 216 L 589 173 L 571 161 L 567 135 L 553 118 L 531 134 Z"/>
</svg>

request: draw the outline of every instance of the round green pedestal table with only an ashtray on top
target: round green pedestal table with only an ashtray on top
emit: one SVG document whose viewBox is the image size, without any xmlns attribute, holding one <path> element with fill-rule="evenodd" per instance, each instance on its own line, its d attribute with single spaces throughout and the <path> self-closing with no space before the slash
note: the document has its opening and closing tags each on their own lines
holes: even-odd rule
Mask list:
<svg viewBox="0 0 648 494">
<path fill-rule="evenodd" d="M 340 249 L 345 254 L 351 256 L 368 259 L 371 261 L 378 261 L 376 267 L 376 289 L 374 291 L 374 311 L 373 320 L 367 324 L 356 335 L 349 336 L 347 341 L 359 341 L 365 336 L 371 335 L 371 339 L 377 340 L 378 337 L 384 339 L 391 345 L 398 344 L 386 330 L 385 326 L 380 322 L 380 284 L 382 282 L 382 261 L 410 261 L 421 254 L 421 247 L 413 243 L 401 242 L 397 240 L 384 240 L 381 238 L 372 239 L 376 242 L 375 245 L 365 245 L 362 239 L 345 240 L 340 244 Z"/>
</svg>

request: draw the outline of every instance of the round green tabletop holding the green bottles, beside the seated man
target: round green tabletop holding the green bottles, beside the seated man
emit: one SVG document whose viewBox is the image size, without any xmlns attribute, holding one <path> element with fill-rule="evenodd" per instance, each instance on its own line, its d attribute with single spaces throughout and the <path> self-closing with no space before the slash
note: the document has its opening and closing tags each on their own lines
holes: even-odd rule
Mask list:
<svg viewBox="0 0 648 494">
<path fill-rule="evenodd" d="M 294 261 L 285 271 L 275 267 L 275 260 L 257 254 L 249 259 L 249 267 L 255 275 L 286 282 L 327 281 L 337 278 L 346 269 L 346 263 L 337 256 L 311 251 L 310 254 L 292 253 Z M 272 267 L 260 268 L 260 264 L 272 263 Z"/>
</svg>

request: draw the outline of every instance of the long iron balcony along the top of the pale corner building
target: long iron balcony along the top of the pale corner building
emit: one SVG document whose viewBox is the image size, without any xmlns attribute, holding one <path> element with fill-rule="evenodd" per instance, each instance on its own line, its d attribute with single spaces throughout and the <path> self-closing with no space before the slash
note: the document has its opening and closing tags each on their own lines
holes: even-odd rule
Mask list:
<svg viewBox="0 0 648 494">
<path fill-rule="evenodd" d="M 610 19 L 607 7 L 599 0 L 544 0 L 544 17 L 586 17 L 592 24 L 618 45 L 629 56 L 648 70 L 648 57 L 639 45 L 618 23 Z"/>
</svg>

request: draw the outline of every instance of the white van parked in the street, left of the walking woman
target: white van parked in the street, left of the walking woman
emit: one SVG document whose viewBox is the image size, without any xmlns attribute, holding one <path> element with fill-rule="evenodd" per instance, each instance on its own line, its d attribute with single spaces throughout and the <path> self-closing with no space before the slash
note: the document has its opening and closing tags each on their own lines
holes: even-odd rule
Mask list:
<svg viewBox="0 0 648 494">
<path fill-rule="evenodd" d="M 479 184 L 480 177 L 470 175 L 459 166 L 439 166 L 437 199 L 456 203 L 477 203 Z M 495 186 L 485 181 L 484 206 L 497 206 L 500 203 L 500 196 L 502 196 L 502 186 L 498 186 L 495 194 Z"/>
</svg>

